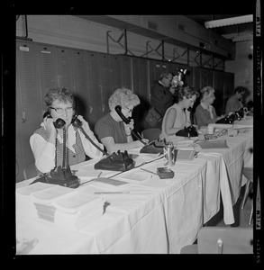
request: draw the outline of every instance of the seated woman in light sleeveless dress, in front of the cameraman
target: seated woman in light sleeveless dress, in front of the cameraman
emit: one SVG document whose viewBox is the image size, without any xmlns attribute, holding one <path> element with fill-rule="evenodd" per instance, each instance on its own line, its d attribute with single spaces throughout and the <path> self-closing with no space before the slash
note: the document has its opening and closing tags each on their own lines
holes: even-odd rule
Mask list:
<svg viewBox="0 0 264 270">
<path fill-rule="evenodd" d="M 164 139 L 168 135 L 174 135 L 178 130 L 191 125 L 190 111 L 187 109 L 193 107 L 196 97 L 196 90 L 191 86 L 179 89 L 178 103 L 170 106 L 163 117 L 160 139 Z"/>
</svg>

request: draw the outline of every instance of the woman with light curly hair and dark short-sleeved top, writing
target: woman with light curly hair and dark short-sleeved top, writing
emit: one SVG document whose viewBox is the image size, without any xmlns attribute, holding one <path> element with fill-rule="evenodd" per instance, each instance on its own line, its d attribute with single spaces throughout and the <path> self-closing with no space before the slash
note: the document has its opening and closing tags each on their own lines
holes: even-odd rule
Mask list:
<svg viewBox="0 0 264 270">
<path fill-rule="evenodd" d="M 107 152 L 143 147 L 140 140 L 132 139 L 134 121 L 131 119 L 130 123 L 126 124 L 115 111 L 115 106 L 121 106 L 123 116 L 128 118 L 132 116 L 133 108 L 140 103 L 139 97 L 126 88 L 116 89 L 109 97 L 110 112 L 99 119 L 95 127 L 96 136 L 105 145 Z M 148 139 L 143 141 L 148 142 Z"/>
</svg>

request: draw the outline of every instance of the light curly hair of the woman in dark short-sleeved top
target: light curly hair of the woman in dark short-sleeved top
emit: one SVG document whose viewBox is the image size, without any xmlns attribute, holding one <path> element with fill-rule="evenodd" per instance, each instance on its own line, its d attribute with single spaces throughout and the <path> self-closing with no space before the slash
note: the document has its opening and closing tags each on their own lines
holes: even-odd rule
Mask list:
<svg viewBox="0 0 264 270">
<path fill-rule="evenodd" d="M 120 105 L 121 107 L 128 106 L 137 106 L 141 103 L 140 98 L 132 93 L 132 90 L 127 88 L 118 88 L 114 90 L 114 93 L 111 94 L 108 100 L 109 109 L 111 111 L 114 110 L 116 105 Z"/>
</svg>

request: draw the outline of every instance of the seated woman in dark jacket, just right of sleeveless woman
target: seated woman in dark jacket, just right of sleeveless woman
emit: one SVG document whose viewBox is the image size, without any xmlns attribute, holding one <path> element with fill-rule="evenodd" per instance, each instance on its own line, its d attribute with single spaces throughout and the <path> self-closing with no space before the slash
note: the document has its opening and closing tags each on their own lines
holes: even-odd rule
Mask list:
<svg viewBox="0 0 264 270">
<path fill-rule="evenodd" d="M 217 116 L 214 106 L 214 88 L 212 86 L 205 86 L 200 91 L 200 103 L 196 107 L 195 123 L 197 126 L 207 126 L 209 123 L 214 123 L 223 116 Z"/>
</svg>

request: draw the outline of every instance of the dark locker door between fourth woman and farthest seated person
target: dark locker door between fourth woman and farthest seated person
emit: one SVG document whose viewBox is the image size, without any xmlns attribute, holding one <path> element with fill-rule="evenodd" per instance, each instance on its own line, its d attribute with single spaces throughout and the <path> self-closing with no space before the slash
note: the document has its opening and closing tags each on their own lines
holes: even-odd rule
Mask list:
<svg viewBox="0 0 264 270">
<path fill-rule="evenodd" d="M 222 115 L 225 111 L 225 101 L 223 96 L 224 73 L 214 70 L 214 108 L 217 115 Z"/>
</svg>

